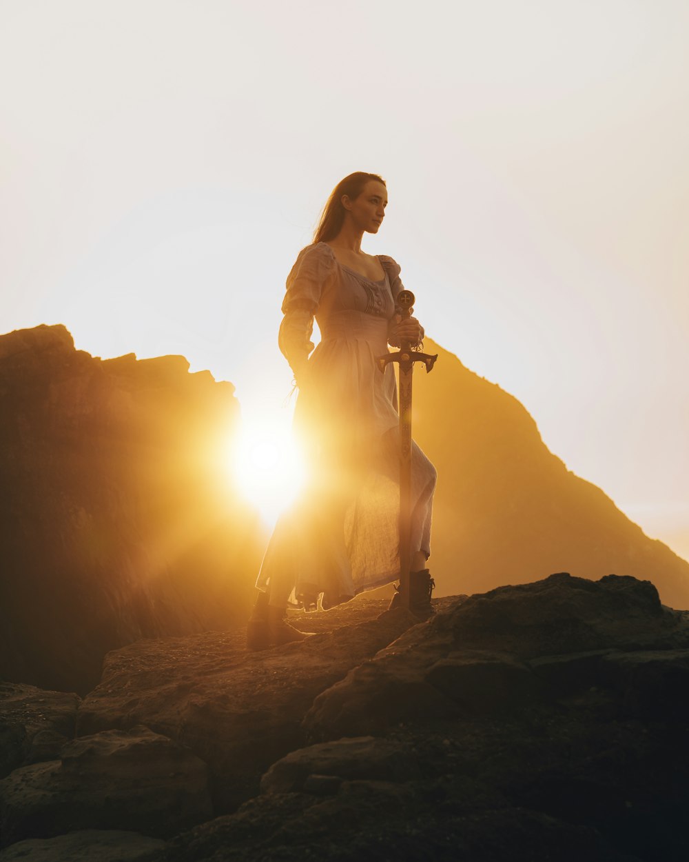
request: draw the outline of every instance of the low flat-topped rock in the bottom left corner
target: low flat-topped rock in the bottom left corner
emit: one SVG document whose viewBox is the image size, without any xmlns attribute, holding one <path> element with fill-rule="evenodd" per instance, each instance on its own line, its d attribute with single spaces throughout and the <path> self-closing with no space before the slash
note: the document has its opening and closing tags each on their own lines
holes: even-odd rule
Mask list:
<svg viewBox="0 0 689 862">
<path fill-rule="evenodd" d="M 0 852 L 0 862 L 157 862 L 165 842 L 136 832 L 87 829 L 56 838 L 17 841 Z"/>
</svg>

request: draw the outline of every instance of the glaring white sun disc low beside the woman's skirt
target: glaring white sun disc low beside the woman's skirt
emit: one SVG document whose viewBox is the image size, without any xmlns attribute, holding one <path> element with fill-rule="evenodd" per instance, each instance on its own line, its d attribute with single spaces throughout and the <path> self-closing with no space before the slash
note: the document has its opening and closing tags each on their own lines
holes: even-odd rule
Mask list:
<svg viewBox="0 0 689 862">
<path fill-rule="evenodd" d="M 303 487 L 305 469 L 290 428 L 271 422 L 243 422 L 230 455 L 239 489 L 272 527 Z"/>
</svg>

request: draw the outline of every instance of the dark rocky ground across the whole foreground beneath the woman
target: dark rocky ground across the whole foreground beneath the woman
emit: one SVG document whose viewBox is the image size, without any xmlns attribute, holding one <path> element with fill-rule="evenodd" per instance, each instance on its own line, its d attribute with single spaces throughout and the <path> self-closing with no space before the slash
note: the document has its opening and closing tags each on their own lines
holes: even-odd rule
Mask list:
<svg viewBox="0 0 689 862">
<path fill-rule="evenodd" d="M 0 685 L 0 860 L 686 859 L 689 615 L 552 575 L 140 640 L 90 694 Z"/>
</svg>

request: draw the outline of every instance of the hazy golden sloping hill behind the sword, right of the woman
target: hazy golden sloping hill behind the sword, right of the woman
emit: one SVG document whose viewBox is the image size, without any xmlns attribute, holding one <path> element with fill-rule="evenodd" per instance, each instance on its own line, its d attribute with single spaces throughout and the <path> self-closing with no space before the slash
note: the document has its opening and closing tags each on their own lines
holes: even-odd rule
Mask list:
<svg viewBox="0 0 689 862">
<path fill-rule="evenodd" d="M 568 471 L 516 398 L 431 340 L 425 349 L 440 355 L 414 386 L 413 433 L 438 467 L 431 567 L 441 594 L 538 573 L 615 572 L 650 580 L 663 603 L 689 608 L 686 560 Z"/>
</svg>

